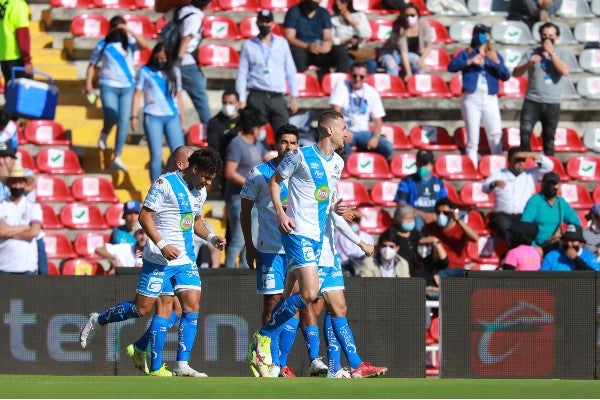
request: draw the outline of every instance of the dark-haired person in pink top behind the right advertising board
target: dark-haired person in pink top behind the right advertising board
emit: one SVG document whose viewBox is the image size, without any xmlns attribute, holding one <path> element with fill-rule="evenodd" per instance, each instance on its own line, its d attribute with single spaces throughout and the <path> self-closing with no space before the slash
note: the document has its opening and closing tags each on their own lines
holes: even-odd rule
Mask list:
<svg viewBox="0 0 600 400">
<path fill-rule="evenodd" d="M 538 234 L 536 224 L 527 222 L 520 223 L 511 228 L 514 236 L 515 247 L 512 247 L 504 257 L 502 269 L 515 271 L 537 271 L 540 269 L 542 257 L 531 245 Z"/>
</svg>

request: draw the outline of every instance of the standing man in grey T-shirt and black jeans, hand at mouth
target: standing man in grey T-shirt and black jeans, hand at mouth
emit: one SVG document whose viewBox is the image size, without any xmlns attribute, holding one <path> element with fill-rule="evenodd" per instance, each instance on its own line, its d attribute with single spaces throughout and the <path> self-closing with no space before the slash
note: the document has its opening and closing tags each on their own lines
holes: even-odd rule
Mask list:
<svg viewBox="0 0 600 400">
<path fill-rule="evenodd" d="M 530 139 L 534 125 L 542 123 L 544 154 L 554 155 L 554 134 L 560 118 L 560 80 L 569 74 L 565 61 L 567 50 L 555 47 L 560 29 L 546 22 L 539 29 L 541 47 L 523 54 L 513 70 L 514 76 L 527 72 L 529 82 L 521 109 L 521 147 L 531 149 Z"/>
</svg>

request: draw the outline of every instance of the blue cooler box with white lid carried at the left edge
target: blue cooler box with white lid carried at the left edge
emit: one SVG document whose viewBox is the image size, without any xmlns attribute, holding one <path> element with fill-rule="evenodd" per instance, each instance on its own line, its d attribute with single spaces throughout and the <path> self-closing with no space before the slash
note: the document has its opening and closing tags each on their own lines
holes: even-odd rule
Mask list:
<svg viewBox="0 0 600 400">
<path fill-rule="evenodd" d="M 58 103 L 58 87 L 54 78 L 40 71 L 33 70 L 34 75 L 42 75 L 49 82 L 28 78 L 15 79 L 15 71 L 24 71 L 23 67 L 12 69 L 12 79 L 5 89 L 5 109 L 13 118 L 54 119 Z"/>
</svg>

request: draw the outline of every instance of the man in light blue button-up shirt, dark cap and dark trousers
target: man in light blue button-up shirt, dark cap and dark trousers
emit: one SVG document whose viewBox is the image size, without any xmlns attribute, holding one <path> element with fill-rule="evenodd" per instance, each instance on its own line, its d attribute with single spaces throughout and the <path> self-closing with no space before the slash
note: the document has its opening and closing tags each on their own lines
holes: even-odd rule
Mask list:
<svg viewBox="0 0 600 400">
<path fill-rule="evenodd" d="M 255 109 L 277 131 L 289 120 L 286 82 L 290 88 L 290 111 L 298 111 L 296 65 L 287 40 L 273 34 L 276 23 L 270 10 L 258 13 L 256 25 L 258 35 L 246 40 L 240 51 L 235 89 L 241 107 Z"/>
</svg>

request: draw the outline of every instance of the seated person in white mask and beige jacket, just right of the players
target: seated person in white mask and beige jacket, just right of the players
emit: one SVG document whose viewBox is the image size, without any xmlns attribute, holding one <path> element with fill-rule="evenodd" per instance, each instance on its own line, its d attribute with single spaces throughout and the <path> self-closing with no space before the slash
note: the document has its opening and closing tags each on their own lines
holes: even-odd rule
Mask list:
<svg viewBox="0 0 600 400">
<path fill-rule="evenodd" d="M 377 240 L 378 251 L 365 258 L 360 267 L 361 278 L 408 278 L 408 262 L 398 255 L 398 243 L 392 233 L 380 235 Z"/>
</svg>

